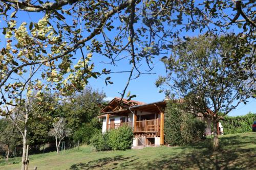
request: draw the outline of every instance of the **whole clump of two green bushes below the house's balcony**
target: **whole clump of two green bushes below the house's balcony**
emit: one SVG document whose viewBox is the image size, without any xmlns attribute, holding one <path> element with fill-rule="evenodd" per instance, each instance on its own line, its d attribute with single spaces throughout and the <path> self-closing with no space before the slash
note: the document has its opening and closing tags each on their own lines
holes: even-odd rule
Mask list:
<svg viewBox="0 0 256 170">
<path fill-rule="evenodd" d="M 97 151 L 131 149 L 133 131 L 130 127 L 120 127 L 105 133 L 98 131 L 92 136 L 91 144 Z"/>
</svg>

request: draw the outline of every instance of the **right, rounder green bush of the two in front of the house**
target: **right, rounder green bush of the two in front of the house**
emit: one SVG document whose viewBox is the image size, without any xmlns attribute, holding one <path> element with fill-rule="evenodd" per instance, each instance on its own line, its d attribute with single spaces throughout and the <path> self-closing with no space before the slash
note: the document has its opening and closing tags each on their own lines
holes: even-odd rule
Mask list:
<svg viewBox="0 0 256 170">
<path fill-rule="evenodd" d="M 130 127 L 120 127 L 110 130 L 108 143 L 112 150 L 131 149 L 133 143 L 133 131 Z"/>
</svg>

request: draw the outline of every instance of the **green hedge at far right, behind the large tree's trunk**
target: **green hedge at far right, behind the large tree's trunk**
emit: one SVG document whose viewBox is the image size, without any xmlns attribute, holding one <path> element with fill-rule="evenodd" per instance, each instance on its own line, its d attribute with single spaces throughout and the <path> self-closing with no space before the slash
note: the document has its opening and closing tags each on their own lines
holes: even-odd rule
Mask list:
<svg viewBox="0 0 256 170">
<path fill-rule="evenodd" d="M 243 116 L 225 116 L 220 120 L 224 134 L 251 132 L 251 125 L 256 120 L 256 113 L 249 112 Z"/>
</svg>

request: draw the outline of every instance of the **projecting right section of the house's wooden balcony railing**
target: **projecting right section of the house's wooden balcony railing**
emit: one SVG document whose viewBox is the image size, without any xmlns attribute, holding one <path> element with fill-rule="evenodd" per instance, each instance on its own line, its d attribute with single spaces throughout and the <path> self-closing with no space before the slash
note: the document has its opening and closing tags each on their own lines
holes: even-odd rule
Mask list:
<svg viewBox="0 0 256 170">
<path fill-rule="evenodd" d="M 160 120 L 142 120 L 136 121 L 133 132 L 134 133 L 152 133 L 160 131 Z"/>
</svg>

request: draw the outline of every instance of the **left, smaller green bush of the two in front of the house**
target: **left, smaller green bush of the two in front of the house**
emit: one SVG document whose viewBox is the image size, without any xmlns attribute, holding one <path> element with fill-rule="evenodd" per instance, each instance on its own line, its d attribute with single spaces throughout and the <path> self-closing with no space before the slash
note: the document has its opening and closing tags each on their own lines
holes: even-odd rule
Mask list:
<svg viewBox="0 0 256 170">
<path fill-rule="evenodd" d="M 110 146 L 108 143 L 109 133 L 102 133 L 98 130 L 90 139 L 90 143 L 96 148 L 97 151 L 108 151 Z"/>
</svg>

